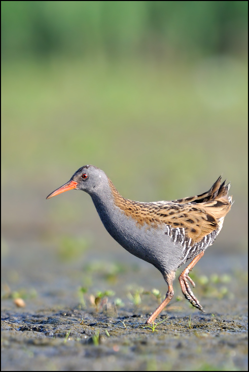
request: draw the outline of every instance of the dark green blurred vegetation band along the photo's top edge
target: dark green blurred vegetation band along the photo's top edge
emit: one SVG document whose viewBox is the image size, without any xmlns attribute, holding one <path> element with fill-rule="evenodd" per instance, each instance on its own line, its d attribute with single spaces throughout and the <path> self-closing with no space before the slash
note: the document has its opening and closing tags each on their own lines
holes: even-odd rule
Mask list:
<svg viewBox="0 0 249 372">
<path fill-rule="evenodd" d="M 247 8 L 246 1 L 3 1 L 2 52 L 4 58 L 242 52 Z"/>
</svg>

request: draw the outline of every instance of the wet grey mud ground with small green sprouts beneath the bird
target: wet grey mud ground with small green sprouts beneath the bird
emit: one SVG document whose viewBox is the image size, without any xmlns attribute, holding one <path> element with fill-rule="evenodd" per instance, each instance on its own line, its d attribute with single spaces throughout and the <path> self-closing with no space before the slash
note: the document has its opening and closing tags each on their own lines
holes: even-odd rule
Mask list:
<svg viewBox="0 0 249 372">
<path fill-rule="evenodd" d="M 63 254 L 8 243 L 2 370 L 247 370 L 245 255 L 205 253 L 191 276 L 206 313 L 176 279 L 153 329 L 145 321 L 167 290 L 153 266 L 117 246 Z"/>
</svg>

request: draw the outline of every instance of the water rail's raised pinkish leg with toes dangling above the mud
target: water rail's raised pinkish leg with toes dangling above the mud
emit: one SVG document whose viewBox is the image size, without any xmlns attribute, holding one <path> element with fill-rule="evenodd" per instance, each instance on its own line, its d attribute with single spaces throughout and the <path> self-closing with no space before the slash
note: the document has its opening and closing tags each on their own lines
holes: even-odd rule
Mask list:
<svg viewBox="0 0 249 372">
<path fill-rule="evenodd" d="M 185 295 L 186 299 L 189 300 L 189 302 L 197 309 L 203 311 L 203 313 L 205 312 L 203 310 L 203 307 L 201 306 L 201 304 L 199 303 L 199 301 L 197 300 L 196 296 L 194 295 L 194 293 L 192 292 L 192 290 L 190 289 L 190 286 L 189 286 L 189 283 L 188 281 L 193 285 L 193 287 L 195 287 L 195 283 L 193 282 L 193 280 L 189 277 L 189 272 L 193 269 L 193 267 L 195 266 L 195 264 L 197 264 L 197 262 L 199 261 L 199 259 L 203 256 L 204 254 L 204 251 L 199 253 L 194 259 L 193 261 L 191 261 L 191 263 L 186 267 L 186 269 L 182 272 L 182 274 L 180 275 L 179 277 L 179 281 L 180 281 L 180 284 L 181 284 L 181 288 L 182 288 L 182 291 L 183 291 L 183 294 Z"/>
</svg>

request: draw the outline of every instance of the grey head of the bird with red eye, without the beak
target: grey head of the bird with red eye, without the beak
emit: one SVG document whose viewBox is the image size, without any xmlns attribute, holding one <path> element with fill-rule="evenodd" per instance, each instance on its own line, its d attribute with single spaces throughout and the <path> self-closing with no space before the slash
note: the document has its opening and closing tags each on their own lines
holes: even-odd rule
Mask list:
<svg viewBox="0 0 249 372">
<path fill-rule="evenodd" d="M 105 173 L 93 165 L 84 165 L 78 169 L 71 180 L 76 181 L 76 190 L 83 190 L 88 194 L 95 193 L 107 179 Z"/>
</svg>

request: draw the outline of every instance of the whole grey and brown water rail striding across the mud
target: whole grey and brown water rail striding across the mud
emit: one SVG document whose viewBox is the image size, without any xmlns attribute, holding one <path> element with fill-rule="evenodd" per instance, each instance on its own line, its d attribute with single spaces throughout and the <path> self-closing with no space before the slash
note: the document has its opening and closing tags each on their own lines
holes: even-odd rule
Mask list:
<svg viewBox="0 0 249 372">
<path fill-rule="evenodd" d="M 154 265 L 168 285 L 165 300 L 147 319 L 154 322 L 172 299 L 173 280 L 177 268 L 192 260 L 179 277 L 186 299 L 197 309 L 203 307 L 192 292 L 189 272 L 214 243 L 224 218 L 232 205 L 228 196 L 230 183 L 221 177 L 211 189 L 201 195 L 171 201 L 151 203 L 123 198 L 112 181 L 99 168 L 85 165 L 47 199 L 67 190 L 88 193 L 109 234 L 128 252 Z"/>
</svg>

